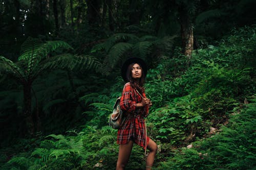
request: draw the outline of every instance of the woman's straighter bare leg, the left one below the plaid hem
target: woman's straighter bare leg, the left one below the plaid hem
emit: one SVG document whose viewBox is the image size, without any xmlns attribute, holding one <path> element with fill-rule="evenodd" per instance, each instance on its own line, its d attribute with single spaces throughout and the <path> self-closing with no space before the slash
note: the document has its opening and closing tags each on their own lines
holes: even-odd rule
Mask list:
<svg viewBox="0 0 256 170">
<path fill-rule="evenodd" d="M 149 143 L 148 143 L 149 144 Z M 122 170 L 129 161 L 131 151 L 133 149 L 133 141 L 130 140 L 127 144 L 119 144 L 118 159 L 116 163 L 116 170 Z"/>
</svg>

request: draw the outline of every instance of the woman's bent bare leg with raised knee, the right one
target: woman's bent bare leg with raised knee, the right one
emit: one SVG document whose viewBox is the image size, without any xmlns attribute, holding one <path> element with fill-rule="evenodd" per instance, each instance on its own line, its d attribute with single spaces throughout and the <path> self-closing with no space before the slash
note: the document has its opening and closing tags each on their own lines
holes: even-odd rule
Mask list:
<svg viewBox="0 0 256 170">
<path fill-rule="evenodd" d="M 147 149 L 150 150 L 150 153 L 148 153 L 147 158 L 146 158 L 146 169 L 150 170 L 150 169 L 152 169 L 155 155 L 157 153 L 156 142 L 154 142 L 152 139 L 150 139 L 150 141 L 148 141 L 148 144 L 147 144 Z"/>
</svg>

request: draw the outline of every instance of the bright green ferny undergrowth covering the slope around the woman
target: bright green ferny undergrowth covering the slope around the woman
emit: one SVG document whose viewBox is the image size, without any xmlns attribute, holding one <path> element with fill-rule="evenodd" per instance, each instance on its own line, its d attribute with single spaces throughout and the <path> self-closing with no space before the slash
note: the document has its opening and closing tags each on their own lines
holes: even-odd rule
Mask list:
<svg viewBox="0 0 256 170">
<path fill-rule="evenodd" d="M 148 70 L 153 107 L 146 122 L 159 148 L 154 169 L 255 168 L 255 42 L 255 27 L 241 28 L 219 46 L 194 51 L 189 67 L 176 48 Z M 82 130 L 28 139 L 13 155 L 1 149 L 1 169 L 115 169 L 117 131 L 108 117 L 123 82 L 113 83 L 79 99 L 89 120 Z M 134 145 L 127 169 L 144 166 L 143 151 Z"/>
</svg>

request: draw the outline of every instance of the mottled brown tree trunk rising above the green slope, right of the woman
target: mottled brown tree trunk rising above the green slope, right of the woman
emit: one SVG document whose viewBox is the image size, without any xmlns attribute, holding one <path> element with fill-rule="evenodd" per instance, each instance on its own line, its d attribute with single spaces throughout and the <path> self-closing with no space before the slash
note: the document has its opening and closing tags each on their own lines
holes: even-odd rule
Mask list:
<svg viewBox="0 0 256 170">
<path fill-rule="evenodd" d="M 187 57 L 188 64 L 191 60 L 191 54 L 193 51 L 194 35 L 192 22 L 189 19 L 188 12 L 184 10 L 185 8 L 180 7 L 180 26 L 181 26 L 181 41 L 182 41 L 182 51 Z"/>
</svg>

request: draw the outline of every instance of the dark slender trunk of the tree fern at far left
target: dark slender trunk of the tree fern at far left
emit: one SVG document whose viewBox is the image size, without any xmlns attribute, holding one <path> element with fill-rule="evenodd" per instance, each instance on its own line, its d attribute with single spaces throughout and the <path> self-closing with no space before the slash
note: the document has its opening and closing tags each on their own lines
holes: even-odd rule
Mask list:
<svg viewBox="0 0 256 170">
<path fill-rule="evenodd" d="M 32 111 L 31 111 L 31 99 L 32 99 L 31 87 L 32 87 L 32 83 L 30 83 L 30 82 L 27 82 L 23 86 L 24 117 L 25 117 L 25 121 L 26 121 L 27 132 L 30 135 L 33 135 L 33 133 L 35 132 L 35 125 L 34 125 L 34 122 L 33 122 L 33 116 L 32 116 Z"/>
</svg>

